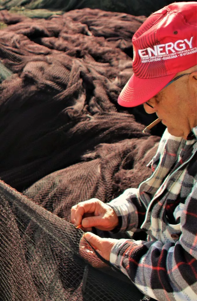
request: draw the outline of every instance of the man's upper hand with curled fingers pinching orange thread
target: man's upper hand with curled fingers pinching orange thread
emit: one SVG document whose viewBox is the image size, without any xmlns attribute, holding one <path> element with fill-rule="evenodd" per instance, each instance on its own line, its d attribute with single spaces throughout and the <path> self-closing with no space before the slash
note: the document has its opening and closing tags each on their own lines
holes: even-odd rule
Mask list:
<svg viewBox="0 0 197 301">
<path fill-rule="evenodd" d="M 90 199 L 71 208 L 71 222 L 81 224 L 85 231 L 91 231 L 92 227 L 111 231 L 118 225 L 118 217 L 109 205 L 98 199 Z"/>
</svg>

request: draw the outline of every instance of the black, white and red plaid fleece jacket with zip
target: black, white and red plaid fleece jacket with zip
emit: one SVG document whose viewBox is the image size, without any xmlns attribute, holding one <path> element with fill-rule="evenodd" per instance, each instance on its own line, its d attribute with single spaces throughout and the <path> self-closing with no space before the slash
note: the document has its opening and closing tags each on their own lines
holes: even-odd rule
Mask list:
<svg viewBox="0 0 197 301">
<path fill-rule="evenodd" d="M 148 239 L 120 239 L 110 262 L 154 299 L 197 300 L 197 127 L 187 140 L 166 130 L 150 166 L 138 189 L 108 203 L 117 231 L 141 228 Z"/>
</svg>

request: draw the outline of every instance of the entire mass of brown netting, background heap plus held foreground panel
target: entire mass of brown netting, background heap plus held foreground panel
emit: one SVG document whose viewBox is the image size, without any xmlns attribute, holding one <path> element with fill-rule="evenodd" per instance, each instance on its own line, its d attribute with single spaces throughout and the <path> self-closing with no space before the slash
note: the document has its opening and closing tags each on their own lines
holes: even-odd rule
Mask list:
<svg viewBox="0 0 197 301">
<path fill-rule="evenodd" d="M 142 130 L 154 117 L 117 104 L 143 20 L 0 11 L 2 79 L 14 73 L 0 85 L 0 178 L 29 197 L 0 182 L 0 300 L 149 300 L 131 297 L 118 271 L 82 259 L 82 231 L 69 223 L 72 205 L 108 202 L 151 174 L 160 137 Z"/>
</svg>

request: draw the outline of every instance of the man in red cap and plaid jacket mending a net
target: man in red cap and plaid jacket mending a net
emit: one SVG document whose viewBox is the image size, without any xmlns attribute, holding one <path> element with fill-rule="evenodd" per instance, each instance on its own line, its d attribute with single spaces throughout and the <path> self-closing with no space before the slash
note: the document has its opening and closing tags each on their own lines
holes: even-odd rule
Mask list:
<svg viewBox="0 0 197 301">
<path fill-rule="evenodd" d="M 149 165 L 152 176 L 110 203 L 72 207 L 85 231 L 137 231 L 146 241 L 86 240 L 144 294 L 157 300 L 197 300 L 197 3 L 173 3 L 152 14 L 133 36 L 134 74 L 119 96 L 144 105 L 167 127 Z"/>
</svg>

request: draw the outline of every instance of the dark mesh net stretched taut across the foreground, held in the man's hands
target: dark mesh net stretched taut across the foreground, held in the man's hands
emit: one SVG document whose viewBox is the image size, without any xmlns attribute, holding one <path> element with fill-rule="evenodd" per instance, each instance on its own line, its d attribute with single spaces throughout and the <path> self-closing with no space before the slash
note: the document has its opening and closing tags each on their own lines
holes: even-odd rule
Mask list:
<svg viewBox="0 0 197 301">
<path fill-rule="evenodd" d="M 0 182 L 0 299 L 150 300 L 140 291 L 133 298 L 135 288 L 126 276 L 110 267 L 93 268 L 82 259 L 82 234 Z M 96 267 L 101 259 L 92 258 Z"/>
</svg>

